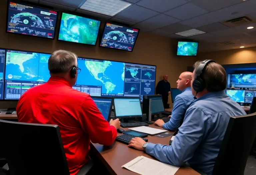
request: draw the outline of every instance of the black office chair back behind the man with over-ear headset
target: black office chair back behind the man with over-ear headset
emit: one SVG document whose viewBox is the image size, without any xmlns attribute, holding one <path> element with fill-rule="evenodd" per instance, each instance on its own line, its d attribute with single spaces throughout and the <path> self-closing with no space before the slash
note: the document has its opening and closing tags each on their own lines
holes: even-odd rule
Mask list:
<svg viewBox="0 0 256 175">
<path fill-rule="evenodd" d="M 256 137 L 256 113 L 231 117 L 212 175 L 243 175 Z"/>
</svg>

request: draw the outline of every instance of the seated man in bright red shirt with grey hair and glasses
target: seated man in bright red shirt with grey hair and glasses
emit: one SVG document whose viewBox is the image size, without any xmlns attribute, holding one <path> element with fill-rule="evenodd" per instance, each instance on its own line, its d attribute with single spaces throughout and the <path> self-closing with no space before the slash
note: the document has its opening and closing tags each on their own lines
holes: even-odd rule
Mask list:
<svg viewBox="0 0 256 175">
<path fill-rule="evenodd" d="M 108 123 L 90 95 L 72 89 L 80 73 L 76 54 L 55 51 L 49 58 L 48 69 L 49 81 L 21 96 L 16 108 L 18 120 L 58 125 L 70 175 L 75 175 L 90 160 L 90 141 L 111 145 L 120 121 Z"/>
</svg>

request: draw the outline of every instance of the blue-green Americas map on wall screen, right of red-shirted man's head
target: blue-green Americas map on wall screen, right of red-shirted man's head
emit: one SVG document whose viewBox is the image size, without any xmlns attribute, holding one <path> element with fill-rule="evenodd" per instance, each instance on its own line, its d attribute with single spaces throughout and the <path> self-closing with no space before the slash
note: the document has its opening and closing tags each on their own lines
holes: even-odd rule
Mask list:
<svg viewBox="0 0 256 175">
<path fill-rule="evenodd" d="M 125 63 L 78 58 L 78 85 L 102 86 L 103 94 L 124 94 Z"/>
</svg>

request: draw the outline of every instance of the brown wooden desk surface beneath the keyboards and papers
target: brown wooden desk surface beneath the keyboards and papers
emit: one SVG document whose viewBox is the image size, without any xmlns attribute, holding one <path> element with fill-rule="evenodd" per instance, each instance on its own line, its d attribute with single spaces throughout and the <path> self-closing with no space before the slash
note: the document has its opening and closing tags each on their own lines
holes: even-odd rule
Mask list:
<svg viewBox="0 0 256 175">
<path fill-rule="evenodd" d="M 149 127 L 159 128 L 155 125 L 149 125 Z M 128 128 L 123 128 L 127 130 Z M 170 133 L 174 133 L 172 131 L 168 131 Z M 121 135 L 117 133 L 117 135 Z M 171 136 L 166 138 L 160 138 L 156 136 L 148 136 L 145 137 L 148 139 L 148 142 L 151 143 L 161 143 L 161 144 L 169 144 L 169 140 Z M 150 155 L 144 153 L 143 151 L 138 151 L 132 148 L 127 147 L 127 145 L 114 142 L 112 146 L 103 146 L 100 144 L 91 144 L 91 151 L 93 151 L 99 159 L 103 162 L 103 164 L 107 167 L 112 175 L 122 174 L 122 175 L 137 175 L 132 171 L 127 169 L 121 168 L 122 165 L 130 162 L 131 160 L 135 159 L 138 156 L 145 156 L 148 158 L 153 158 Z M 154 159 L 154 158 L 153 158 Z M 175 175 L 199 175 L 195 170 L 190 167 L 181 167 Z"/>
</svg>

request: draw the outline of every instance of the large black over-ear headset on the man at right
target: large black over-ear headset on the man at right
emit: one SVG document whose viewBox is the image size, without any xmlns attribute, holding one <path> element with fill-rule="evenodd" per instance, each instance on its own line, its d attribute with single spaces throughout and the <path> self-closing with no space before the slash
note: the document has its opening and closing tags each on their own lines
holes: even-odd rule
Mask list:
<svg viewBox="0 0 256 175">
<path fill-rule="evenodd" d="M 205 82 L 202 79 L 202 74 L 204 67 L 207 66 L 207 64 L 214 62 L 214 60 L 204 60 L 202 63 L 198 66 L 198 69 L 196 71 L 196 79 L 193 81 L 193 89 L 196 91 L 196 93 L 201 92 L 205 88 Z"/>
</svg>

